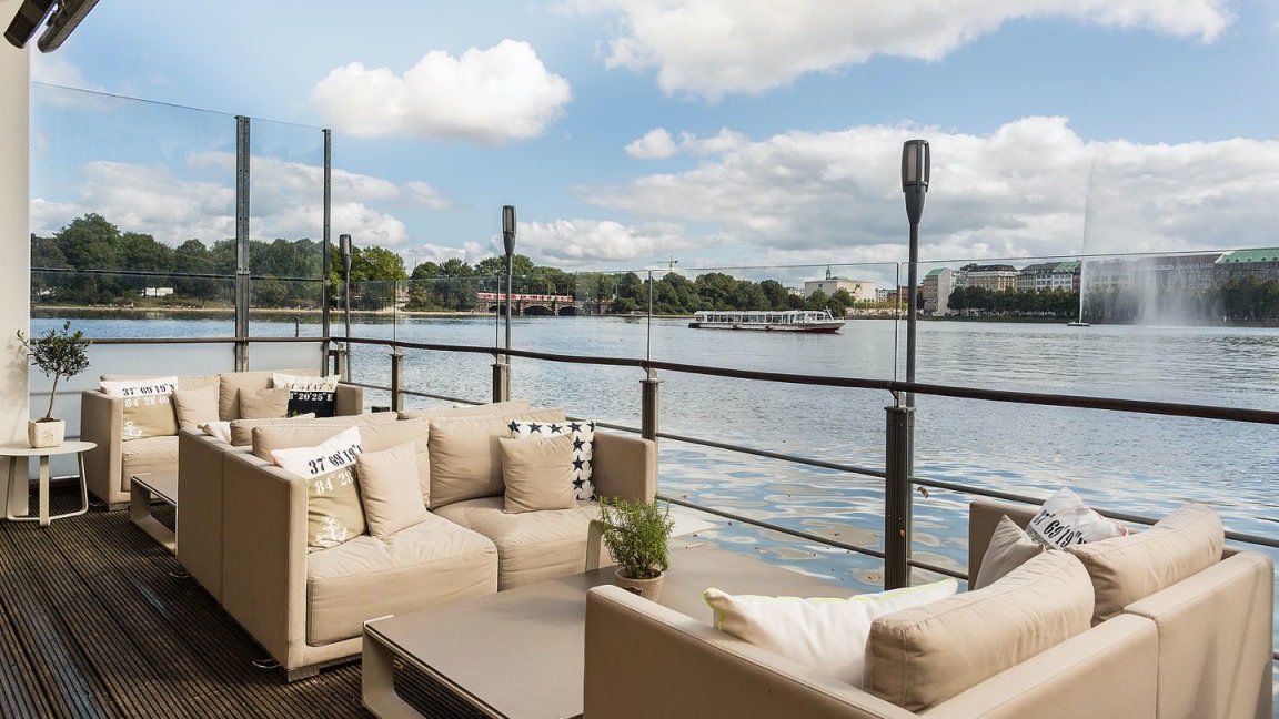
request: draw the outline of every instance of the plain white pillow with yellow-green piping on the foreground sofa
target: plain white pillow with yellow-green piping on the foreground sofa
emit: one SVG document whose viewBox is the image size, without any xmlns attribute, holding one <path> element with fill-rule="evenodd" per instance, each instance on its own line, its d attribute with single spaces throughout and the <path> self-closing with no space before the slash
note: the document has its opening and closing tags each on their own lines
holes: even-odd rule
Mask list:
<svg viewBox="0 0 1279 719">
<path fill-rule="evenodd" d="M 703 592 L 715 610 L 715 628 L 806 667 L 862 686 L 866 642 L 879 617 L 953 596 L 955 580 L 847 599 L 730 595 Z"/>
</svg>

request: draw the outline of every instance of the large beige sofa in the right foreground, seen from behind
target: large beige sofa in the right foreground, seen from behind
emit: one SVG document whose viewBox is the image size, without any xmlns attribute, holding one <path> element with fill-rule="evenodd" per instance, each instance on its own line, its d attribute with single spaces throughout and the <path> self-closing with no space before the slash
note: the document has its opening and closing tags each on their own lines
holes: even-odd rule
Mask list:
<svg viewBox="0 0 1279 719">
<path fill-rule="evenodd" d="M 969 576 L 1004 514 L 1023 527 L 1033 517 L 973 503 Z M 1216 559 L 1195 568 L 1182 562 L 1187 553 L 1163 551 L 1170 533 L 1040 554 L 981 590 L 876 619 L 865 690 L 596 587 L 587 596 L 585 716 L 1270 716 L 1273 562 L 1223 551 L 1216 540 Z M 1137 555 L 1156 557 L 1149 572 L 1108 573 Z M 1179 565 L 1169 572 L 1164 559 Z M 1187 572 L 1137 596 L 1152 577 Z M 642 696 L 633 687 L 645 687 Z"/>
</svg>

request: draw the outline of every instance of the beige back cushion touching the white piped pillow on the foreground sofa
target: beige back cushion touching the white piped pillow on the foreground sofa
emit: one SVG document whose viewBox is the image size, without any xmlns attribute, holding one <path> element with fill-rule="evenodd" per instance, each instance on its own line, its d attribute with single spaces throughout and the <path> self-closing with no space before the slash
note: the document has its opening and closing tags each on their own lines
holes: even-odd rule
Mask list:
<svg viewBox="0 0 1279 719">
<path fill-rule="evenodd" d="M 923 711 L 1088 631 L 1092 582 L 1049 551 L 984 590 L 880 617 L 866 647 L 866 691 Z"/>
</svg>

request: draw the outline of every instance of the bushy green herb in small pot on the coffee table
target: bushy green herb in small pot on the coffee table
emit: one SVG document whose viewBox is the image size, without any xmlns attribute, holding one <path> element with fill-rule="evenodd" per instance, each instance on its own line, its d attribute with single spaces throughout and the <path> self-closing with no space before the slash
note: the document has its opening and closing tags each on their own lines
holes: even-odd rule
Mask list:
<svg viewBox="0 0 1279 719">
<path fill-rule="evenodd" d="M 618 586 L 657 599 L 664 572 L 670 568 L 670 503 L 602 498 L 599 522 L 604 546 L 618 563 Z"/>
</svg>

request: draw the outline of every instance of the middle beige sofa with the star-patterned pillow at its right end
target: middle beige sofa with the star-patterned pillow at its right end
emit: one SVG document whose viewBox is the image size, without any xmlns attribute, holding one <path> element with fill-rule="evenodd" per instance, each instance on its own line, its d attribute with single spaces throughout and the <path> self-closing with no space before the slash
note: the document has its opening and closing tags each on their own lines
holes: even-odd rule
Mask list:
<svg viewBox="0 0 1279 719">
<path fill-rule="evenodd" d="M 362 422 L 366 454 L 413 443 L 428 512 L 389 536 L 366 533 L 321 550 L 308 550 L 308 480 L 270 458 L 272 450 L 318 444 L 343 426 L 334 420 L 257 426 L 246 448 L 184 430 L 178 527 L 184 535 L 193 530 L 189 542 L 178 537 L 179 560 L 290 681 L 356 658 L 367 619 L 581 572 L 597 503 L 503 510 L 496 438 L 509 434 L 512 417 L 563 417 L 563 411 L 527 407 L 517 402 L 404 412 L 396 421 L 353 418 Z M 599 495 L 651 499 L 655 445 L 597 431 L 592 481 Z M 220 499 L 210 496 L 215 487 Z M 203 499 L 188 504 L 194 496 Z"/>
</svg>

